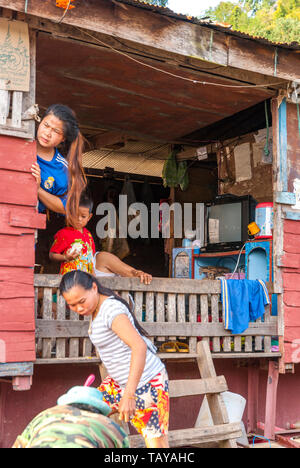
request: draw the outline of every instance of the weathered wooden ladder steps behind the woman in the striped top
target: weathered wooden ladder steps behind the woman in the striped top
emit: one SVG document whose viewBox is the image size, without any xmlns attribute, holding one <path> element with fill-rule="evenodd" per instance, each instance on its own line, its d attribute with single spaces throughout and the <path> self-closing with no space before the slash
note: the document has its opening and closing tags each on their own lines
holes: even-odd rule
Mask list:
<svg viewBox="0 0 300 468">
<path fill-rule="evenodd" d="M 220 448 L 237 448 L 236 439 L 241 437 L 239 422 L 230 423 L 222 392 L 228 390 L 224 376 L 217 376 L 208 343 L 201 341 L 197 345 L 197 363 L 200 379 L 171 380 L 169 386 L 170 398 L 206 395 L 211 412 L 213 426 L 192 427 L 169 431 L 170 447 L 205 446 L 218 443 Z M 103 378 L 103 367 L 101 366 Z M 170 405 L 172 412 L 172 400 Z M 120 423 L 116 419 L 117 423 Z M 129 435 L 130 447 L 144 448 L 145 442 L 141 435 Z"/>
</svg>

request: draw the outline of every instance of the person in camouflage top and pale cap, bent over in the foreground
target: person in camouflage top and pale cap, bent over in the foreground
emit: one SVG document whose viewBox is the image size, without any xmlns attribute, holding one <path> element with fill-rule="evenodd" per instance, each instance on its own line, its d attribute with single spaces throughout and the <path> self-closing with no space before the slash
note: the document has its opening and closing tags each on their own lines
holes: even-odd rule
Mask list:
<svg viewBox="0 0 300 468">
<path fill-rule="evenodd" d="M 107 415 L 94 388 L 73 387 L 58 405 L 38 414 L 12 448 L 128 448 L 128 436 Z"/>
</svg>

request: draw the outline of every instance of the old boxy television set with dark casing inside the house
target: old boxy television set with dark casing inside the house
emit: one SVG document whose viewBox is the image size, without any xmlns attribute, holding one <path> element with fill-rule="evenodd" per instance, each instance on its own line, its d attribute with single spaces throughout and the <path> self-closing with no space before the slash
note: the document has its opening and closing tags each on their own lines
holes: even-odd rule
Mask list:
<svg viewBox="0 0 300 468">
<path fill-rule="evenodd" d="M 206 251 L 240 249 L 248 240 L 248 224 L 255 221 L 257 201 L 251 196 L 219 195 L 205 207 Z"/>
</svg>

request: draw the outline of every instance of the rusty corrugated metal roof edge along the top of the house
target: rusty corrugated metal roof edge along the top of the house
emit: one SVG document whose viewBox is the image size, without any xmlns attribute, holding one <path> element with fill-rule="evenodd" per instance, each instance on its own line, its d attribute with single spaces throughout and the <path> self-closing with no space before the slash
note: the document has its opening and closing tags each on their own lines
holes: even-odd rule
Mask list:
<svg viewBox="0 0 300 468">
<path fill-rule="evenodd" d="M 292 43 L 289 43 L 289 44 L 281 43 L 281 42 L 272 42 L 272 41 L 269 41 L 268 39 L 265 39 L 265 38 L 260 37 L 260 36 L 252 36 L 251 34 L 246 34 L 246 33 L 243 33 L 241 31 L 236 31 L 236 30 L 232 29 L 231 25 L 225 25 L 223 23 L 217 23 L 217 22 L 214 22 L 214 21 L 201 20 L 201 19 L 196 18 L 194 16 L 187 16 L 187 15 L 183 15 L 181 13 L 175 13 L 170 8 L 162 7 L 162 6 L 159 6 L 159 5 L 150 5 L 149 3 L 145 3 L 142 0 L 113 0 L 113 1 L 118 2 L 118 3 L 127 4 L 127 5 L 136 6 L 138 8 L 144 8 L 146 10 L 155 11 L 155 12 L 161 14 L 161 15 L 166 15 L 166 16 L 168 16 L 170 18 L 175 18 L 175 19 L 179 19 L 179 20 L 182 20 L 182 21 L 188 21 L 188 22 L 194 23 L 194 24 L 199 24 L 201 26 L 205 26 L 205 27 L 214 29 L 216 31 L 224 32 L 225 34 L 230 34 L 232 36 L 237 36 L 237 37 L 241 37 L 241 38 L 244 38 L 244 39 L 252 39 L 252 40 L 254 40 L 256 42 L 260 42 L 260 43 L 268 44 L 268 45 L 273 45 L 275 47 L 283 47 L 283 48 L 286 48 L 286 49 L 300 50 L 300 44 L 297 43 L 297 42 L 292 42 Z"/>
</svg>

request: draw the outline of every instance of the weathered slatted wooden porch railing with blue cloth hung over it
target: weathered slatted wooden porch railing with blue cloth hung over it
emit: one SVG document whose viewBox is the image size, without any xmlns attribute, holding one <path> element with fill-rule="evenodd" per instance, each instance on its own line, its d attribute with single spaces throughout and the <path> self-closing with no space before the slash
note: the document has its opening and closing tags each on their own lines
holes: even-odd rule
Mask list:
<svg viewBox="0 0 300 468">
<path fill-rule="evenodd" d="M 99 362 L 88 338 L 89 318 L 66 307 L 57 290 L 60 279 L 35 276 L 37 363 Z M 154 278 L 145 286 L 138 279 L 102 278 L 101 283 L 125 299 L 131 294 L 135 315 L 158 348 L 175 340 L 188 345 L 188 353 L 160 352 L 163 359 L 196 357 L 199 340 L 209 343 L 214 358 L 280 356 L 271 352 L 271 337 L 278 332 L 270 310 L 242 335 L 224 329 L 220 281 Z"/>
</svg>

